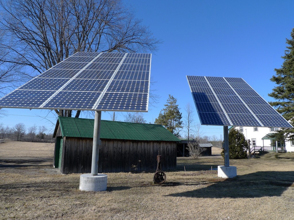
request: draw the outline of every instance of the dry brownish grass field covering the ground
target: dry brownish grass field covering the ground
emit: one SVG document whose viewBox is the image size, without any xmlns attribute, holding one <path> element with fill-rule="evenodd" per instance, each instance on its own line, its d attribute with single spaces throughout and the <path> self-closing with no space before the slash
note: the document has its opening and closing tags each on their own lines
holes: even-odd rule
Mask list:
<svg viewBox="0 0 294 220">
<path fill-rule="evenodd" d="M 178 158 L 163 185 L 153 172 L 107 173 L 107 191 L 82 192 L 80 174 L 53 169 L 53 149 L 0 144 L 0 219 L 294 219 L 294 153 L 230 160 L 233 179 L 211 170 L 220 156 Z"/>
</svg>

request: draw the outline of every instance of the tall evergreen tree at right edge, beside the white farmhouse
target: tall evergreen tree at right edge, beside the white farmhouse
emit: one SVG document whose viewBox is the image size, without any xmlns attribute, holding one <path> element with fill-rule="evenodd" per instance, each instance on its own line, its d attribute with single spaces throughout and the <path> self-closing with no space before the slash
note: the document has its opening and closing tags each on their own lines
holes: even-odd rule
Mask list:
<svg viewBox="0 0 294 220">
<path fill-rule="evenodd" d="M 273 89 L 273 92 L 268 94 L 276 101 L 271 101 L 273 106 L 286 120 L 290 120 L 293 125 L 294 118 L 294 28 L 291 32 L 291 39 L 286 39 L 288 46 L 285 50 L 283 65 L 279 69 L 275 69 L 274 75 L 270 81 L 275 82 L 278 86 Z M 283 136 L 293 138 L 294 129 L 280 129 L 276 136 L 277 140 L 283 141 Z"/>
</svg>

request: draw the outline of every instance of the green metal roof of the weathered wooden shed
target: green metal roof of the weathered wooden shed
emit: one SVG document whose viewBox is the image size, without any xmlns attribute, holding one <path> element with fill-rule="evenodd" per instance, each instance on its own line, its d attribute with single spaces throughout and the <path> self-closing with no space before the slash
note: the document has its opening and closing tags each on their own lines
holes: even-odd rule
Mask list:
<svg viewBox="0 0 294 220">
<path fill-rule="evenodd" d="M 56 136 L 59 124 L 63 137 L 93 138 L 94 119 L 59 116 L 54 130 L 54 137 Z M 106 120 L 101 120 L 100 138 L 139 141 L 181 141 L 161 125 Z"/>
</svg>

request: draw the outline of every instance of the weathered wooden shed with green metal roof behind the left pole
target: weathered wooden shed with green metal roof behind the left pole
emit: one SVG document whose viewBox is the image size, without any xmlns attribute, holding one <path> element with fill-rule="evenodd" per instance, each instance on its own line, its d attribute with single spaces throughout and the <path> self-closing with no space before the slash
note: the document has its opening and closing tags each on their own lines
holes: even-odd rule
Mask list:
<svg viewBox="0 0 294 220">
<path fill-rule="evenodd" d="M 58 117 L 54 130 L 55 168 L 61 173 L 90 173 L 93 119 Z M 98 172 L 155 170 L 161 155 L 163 170 L 176 169 L 180 140 L 161 125 L 101 120 Z"/>
</svg>

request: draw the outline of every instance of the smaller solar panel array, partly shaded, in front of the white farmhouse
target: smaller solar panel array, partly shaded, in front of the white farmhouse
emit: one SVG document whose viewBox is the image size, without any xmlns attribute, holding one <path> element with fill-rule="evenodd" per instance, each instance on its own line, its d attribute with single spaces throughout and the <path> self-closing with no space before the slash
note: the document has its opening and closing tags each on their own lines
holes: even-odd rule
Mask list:
<svg viewBox="0 0 294 220">
<path fill-rule="evenodd" d="M 203 125 L 292 127 L 242 78 L 187 76 Z"/>
</svg>

